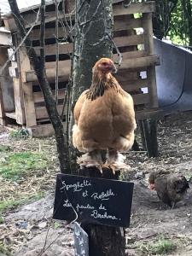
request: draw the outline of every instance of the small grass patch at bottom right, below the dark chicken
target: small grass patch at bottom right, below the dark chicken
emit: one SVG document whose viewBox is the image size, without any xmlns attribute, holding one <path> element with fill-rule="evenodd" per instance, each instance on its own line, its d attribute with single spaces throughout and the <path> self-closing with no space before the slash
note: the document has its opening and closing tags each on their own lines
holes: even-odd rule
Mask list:
<svg viewBox="0 0 192 256">
<path fill-rule="evenodd" d="M 141 243 L 138 249 L 143 253 L 142 255 L 166 255 L 175 251 L 176 244 L 170 239 L 161 237 L 157 241 Z"/>
</svg>

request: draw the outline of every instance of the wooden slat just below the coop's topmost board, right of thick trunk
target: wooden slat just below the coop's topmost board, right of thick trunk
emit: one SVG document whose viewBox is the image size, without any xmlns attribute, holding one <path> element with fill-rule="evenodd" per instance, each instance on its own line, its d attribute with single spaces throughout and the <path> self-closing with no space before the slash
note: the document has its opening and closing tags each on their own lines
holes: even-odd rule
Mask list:
<svg viewBox="0 0 192 256">
<path fill-rule="evenodd" d="M 119 16 L 117 16 L 119 17 Z M 122 17 L 122 16 L 121 16 Z M 121 18 L 120 17 L 120 18 Z M 123 16 L 124 17 L 124 16 Z M 116 19 L 114 17 L 114 31 L 128 30 L 137 27 L 142 27 L 142 18 L 138 19 Z"/>
</svg>

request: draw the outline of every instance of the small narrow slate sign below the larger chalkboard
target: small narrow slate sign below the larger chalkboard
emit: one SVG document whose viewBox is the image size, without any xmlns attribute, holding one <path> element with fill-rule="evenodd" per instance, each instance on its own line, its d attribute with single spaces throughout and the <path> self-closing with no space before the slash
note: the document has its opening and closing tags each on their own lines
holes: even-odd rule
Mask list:
<svg viewBox="0 0 192 256">
<path fill-rule="evenodd" d="M 75 256 L 89 256 L 89 237 L 81 226 L 74 223 Z"/>
</svg>

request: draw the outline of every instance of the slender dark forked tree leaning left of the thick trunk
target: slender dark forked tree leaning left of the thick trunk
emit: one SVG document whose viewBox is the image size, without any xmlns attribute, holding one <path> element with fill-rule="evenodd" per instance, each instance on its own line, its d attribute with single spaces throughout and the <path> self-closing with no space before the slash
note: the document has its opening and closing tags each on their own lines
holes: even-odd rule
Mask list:
<svg viewBox="0 0 192 256">
<path fill-rule="evenodd" d="M 20 10 L 18 9 L 18 5 L 16 0 L 9 0 L 9 5 L 13 17 L 15 19 L 15 24 L 20 32 L 21 38 L 26 36 L 26 28 L 24 24 L 24 20 L 20 15 Z M 51 88 L 49 86 L 49 81 L 46 77 L 45 67 L 44 67 L 44 18 L 45 17 L 45 0 L 42 0 L 41 3 L 41 58 L 38 59 L 38 55 L 36 55 L 35 50 L 32 48 L 32 41 L 30 38 L 26 38 L 24 45 L 26 47 L 26 54 L 28 55 L 32 67 L 38 77 L 38 83 L 40 88 L 44 94 L 45 106 L 47 108 L 47 112 L 49 114 L 49 119 L 55 130 L 55 139 L 57 145 L 58 158 L 60 161 L 60 168 L 62 173 L 70 172 L 69 158 L 68 158 L 68 150 L 67 144 L 64 137 L 63 125 L 61 122 L 61 118 L 56 108 L 55 100 L 52 95 Z"/>
</svg>

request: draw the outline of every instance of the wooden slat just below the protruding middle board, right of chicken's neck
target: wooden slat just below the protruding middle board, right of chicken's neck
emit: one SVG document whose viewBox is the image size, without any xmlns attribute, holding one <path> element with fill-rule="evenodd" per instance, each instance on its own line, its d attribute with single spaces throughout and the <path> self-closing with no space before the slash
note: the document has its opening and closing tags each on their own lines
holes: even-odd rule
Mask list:
<svg viewBox="0 0 192 256">
<path fill-rule="evenodd" d="M 148 79 L 137 79 L 132 81 L 121 82 L 120 85 L 126 91 L 138 90 L 144 87 L 148 87 Z"/>
</svg>

